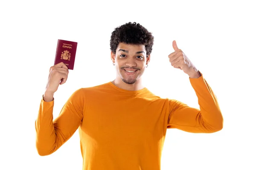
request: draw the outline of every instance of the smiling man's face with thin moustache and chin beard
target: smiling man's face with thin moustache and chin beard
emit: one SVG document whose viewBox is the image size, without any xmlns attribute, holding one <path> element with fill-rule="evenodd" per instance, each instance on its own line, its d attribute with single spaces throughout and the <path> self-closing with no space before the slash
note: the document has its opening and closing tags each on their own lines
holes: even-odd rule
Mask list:
<svg viewBox="0 0 256 170">
<path fill-rule="evenodd" d="M 127 84 L 137 82 L 150 60 L 150 55 L 146 56 L 145 45 L 119 43 L 116 54 L 111 52 L 111 59 L 116 66 L 116 79 Z"/>
</svg>

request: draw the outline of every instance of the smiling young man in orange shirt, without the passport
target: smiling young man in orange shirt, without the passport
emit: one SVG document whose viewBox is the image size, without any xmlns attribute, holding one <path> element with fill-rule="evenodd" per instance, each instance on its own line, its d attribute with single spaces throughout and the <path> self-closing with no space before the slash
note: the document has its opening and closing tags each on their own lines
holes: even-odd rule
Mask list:
<svg viewBox="0 0 256 170">
<path fill-rule="evenodd" d="M 83 170 L 160 170 L 167 128 L 192 133 L 221 130 L 223 118 L 212 89 L 175 41 L 169 61 L 189 76 L 201 110 L 162 99 L 142 85 L 153 41 L 140 24 L 116 28 L 110 42 L 116 79 L 75 91 L 55 120 L 53 95 L 67 81 L 68 69 L 63 63 L 52 66 L 35 122 L 39 155 L 58 150 L 79 128 Z"/>
</svg>

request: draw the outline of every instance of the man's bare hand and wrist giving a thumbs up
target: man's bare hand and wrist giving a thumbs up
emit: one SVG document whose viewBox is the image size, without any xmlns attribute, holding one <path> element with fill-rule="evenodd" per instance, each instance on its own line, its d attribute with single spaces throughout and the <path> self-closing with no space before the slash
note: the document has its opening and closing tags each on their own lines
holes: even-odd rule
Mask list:
<svg viewBox="0 0 256 170">
<path fill-rule="evenodd" d="M 177 47 L 176 41 L 172 42 L 172 47 L 175 50 L 169 54 L 169 61 L 174 68 L 178 68 L 188 74 L 190 78 L 198 78 L 201 76 L 189 58 Z"/>
</svg>

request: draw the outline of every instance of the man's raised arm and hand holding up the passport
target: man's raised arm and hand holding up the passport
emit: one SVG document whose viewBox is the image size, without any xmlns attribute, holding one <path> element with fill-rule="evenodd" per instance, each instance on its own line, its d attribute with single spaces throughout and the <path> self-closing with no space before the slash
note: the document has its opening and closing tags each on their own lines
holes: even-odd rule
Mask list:
<svg viewBox="0 0 256 170">
<path fill-rule="evenodd" d="M 47 90 L 41 99 L 38 117 L 35 121 L 36 148 L 41 156 L 55 152 L 75 133 L 83 119 L 83 96 L 81 90 L 75 91 L 53 120 L 53 94 L 59 84 L 67 80 L 67 67 L 63 63 L 52 66 Z"/>
</svg>

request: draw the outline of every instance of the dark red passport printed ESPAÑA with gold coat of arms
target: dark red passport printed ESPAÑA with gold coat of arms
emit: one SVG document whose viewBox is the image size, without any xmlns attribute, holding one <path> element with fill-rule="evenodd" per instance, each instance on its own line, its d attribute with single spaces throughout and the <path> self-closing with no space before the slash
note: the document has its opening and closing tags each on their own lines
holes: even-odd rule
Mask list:
<svg viewBox="0 0 256 170">
<path fill-rule="evenodd" d="M 77 42 L 58 40 L 54 65 L 64 62 L 67 68 L 74 69 Z"/>
</svg>

